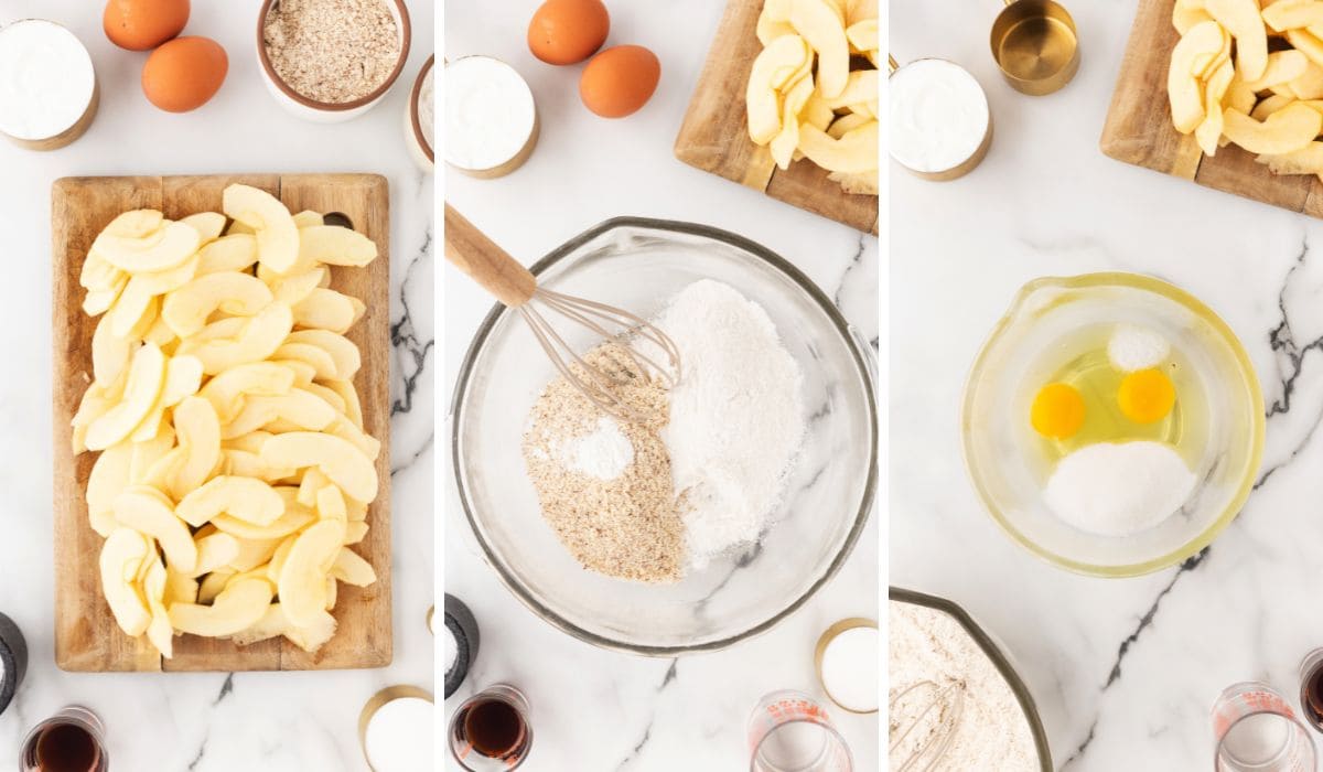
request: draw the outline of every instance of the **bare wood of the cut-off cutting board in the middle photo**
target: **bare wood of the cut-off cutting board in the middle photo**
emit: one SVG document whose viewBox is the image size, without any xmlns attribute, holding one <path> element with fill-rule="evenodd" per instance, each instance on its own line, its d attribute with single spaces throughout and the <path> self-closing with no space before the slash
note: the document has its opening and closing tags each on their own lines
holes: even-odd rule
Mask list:
<svg viewBox="0 0 1323 772">
<path fill-rule="evenodd" d="M 705 172 L 763 191 L 815 215 L 877 234 L 877 196 L 851 195 L 827 179 L 827 169 L 803 159 L 781 171 L 766 147 L 749 139 L 745 86 L 762 52 L 758 15 L 763 0 L 729 0 L 689 99 L 675 155 Z"/>
</svg>

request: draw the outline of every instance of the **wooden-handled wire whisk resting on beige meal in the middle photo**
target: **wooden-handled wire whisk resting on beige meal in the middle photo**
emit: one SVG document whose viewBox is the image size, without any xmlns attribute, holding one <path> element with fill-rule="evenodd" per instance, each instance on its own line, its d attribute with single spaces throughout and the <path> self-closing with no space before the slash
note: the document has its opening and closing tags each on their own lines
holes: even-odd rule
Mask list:
<svg viewBox="0 0 1323 772">
<path fill-rule="evenodd" d="M 623 309 L 537 286 L 537 278 L 527 267 L 487 238 L 450 204 L 446 204 L 445 241 L 446 260 L 468 274 L 505 307 L 519 311 L 557 372 L 598 408 L 631 422 L 648 418 L 624 403 L 617 379 L 583 362 L 583 358 L 556 331 L 544 311 L 553 311 L 618 344 L 640 375 L 655 375 L 671 388 L 680 383 L 680 350 L 664 332 Z M 659 364 L 654 356 L 634 346 L 636 342 L 651 343 L 664 355 L 667 363 Z"/>
</svg>

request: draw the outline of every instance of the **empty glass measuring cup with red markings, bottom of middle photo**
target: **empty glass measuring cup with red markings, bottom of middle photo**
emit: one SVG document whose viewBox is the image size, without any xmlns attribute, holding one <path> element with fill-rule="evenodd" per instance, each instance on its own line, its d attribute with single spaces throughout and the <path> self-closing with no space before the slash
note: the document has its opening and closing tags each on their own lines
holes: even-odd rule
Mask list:
<svg viewBox="0 0 1323 772">
<path fill-rule="evenodd" d="M 749 714 L 749 772 L 853 772 L 845 738 L 814 698 L 773 691 Z"/>
</svg>

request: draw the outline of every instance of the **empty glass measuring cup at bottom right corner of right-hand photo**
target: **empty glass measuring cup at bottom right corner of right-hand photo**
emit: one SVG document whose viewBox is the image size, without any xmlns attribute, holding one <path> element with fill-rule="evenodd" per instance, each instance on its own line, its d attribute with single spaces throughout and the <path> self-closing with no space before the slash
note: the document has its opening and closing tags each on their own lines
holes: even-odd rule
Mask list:
<svg viewBox="0 0 1323 772">
<path fill-rule="evenodd" d="M 1314 740 L 1281 693 L 1257 681 L 1228 686 L 1213 703 L 1218 772 L 1314 772 Z"/>
</svg>

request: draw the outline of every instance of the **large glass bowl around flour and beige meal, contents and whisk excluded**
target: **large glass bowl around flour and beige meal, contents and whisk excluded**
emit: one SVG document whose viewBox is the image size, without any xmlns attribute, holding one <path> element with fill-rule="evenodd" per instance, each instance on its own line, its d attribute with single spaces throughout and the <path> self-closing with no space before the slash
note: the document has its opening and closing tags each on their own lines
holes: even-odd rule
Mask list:
<svg viewBox="0 0 1323 772">
<path fill-rule="evenodd" d="M 759 303 L 803 371 L 810 413 L 799 461 L 761 543 L 650 585 L 583 569 L 542 520 L 520 441 L 554 369 L 517 314 L 496 306 L 459 371 L 451 452 L 464 514 L 487 561 L 529 609 L 583 641 L 652 655 L 714 650 L 762 633 L 840 568 L 872 508 L 877 413 L 871 350 L 804 274 L 732 233 L 609 220 L 532 267 L 538 285 L 642 316 L 691 282 L 725 282 Z M 557 324 L 583 351 L 586 330 Z"/>
</svg>

